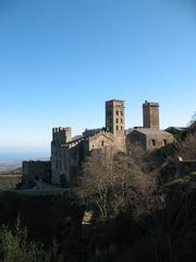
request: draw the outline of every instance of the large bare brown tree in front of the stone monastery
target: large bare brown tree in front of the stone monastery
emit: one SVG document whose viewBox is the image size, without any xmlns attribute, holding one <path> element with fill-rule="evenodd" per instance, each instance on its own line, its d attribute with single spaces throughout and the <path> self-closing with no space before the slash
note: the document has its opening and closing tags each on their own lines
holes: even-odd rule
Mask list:
<svg viewBox="0 0 196 262">
<path fill-rule="evenodd" d="M 143 163 L 114 148 L 93 151 L 83 167 L 79 195 L 97 204 L 102 219 L 120 212 L 150 209 L 156 177 L 145 174 Z"/>
</svg>

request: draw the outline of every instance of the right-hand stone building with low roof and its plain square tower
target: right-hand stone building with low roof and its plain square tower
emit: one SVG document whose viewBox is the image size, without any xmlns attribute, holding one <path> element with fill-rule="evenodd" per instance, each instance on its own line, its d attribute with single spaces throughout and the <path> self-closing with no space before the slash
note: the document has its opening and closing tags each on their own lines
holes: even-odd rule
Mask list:
<svg viewBox="0 0 196 262">
<path fill-rule="evenodd" d="M 143 122 L 144 127 L 127 132 L 126 143 L 151 151 L 175 141 L 171 133 L 159 129 L 159 104 L 147 100 L 143 104 Z"/>
</svg>

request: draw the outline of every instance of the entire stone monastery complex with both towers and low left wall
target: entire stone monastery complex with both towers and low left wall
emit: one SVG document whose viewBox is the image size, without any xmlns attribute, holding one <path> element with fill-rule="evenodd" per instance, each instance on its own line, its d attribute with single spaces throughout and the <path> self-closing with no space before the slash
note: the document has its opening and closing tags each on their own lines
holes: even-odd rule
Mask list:
<svg viewBox="0 0 196 262">
<path fill-rule="evenodd" d="M 30 182 L 36 176 L 48 178 L 51 167 L 51 183 L 70 187 L 76 183 L 82 162 L 93 150 L 113 147 L 125 152 L 126 144 L 140 145 L 155 150 L 174 141 L 173 135 L 159 129 L 159 105 L 145 102 L 143 105 L 144 127 L 125 130 L 124 102 L 106 102 L 105 128 L 85 130 L 72 136 L 72 130 L 53 128 L 51 141 L 51 162 L 27 162 L 23 164 L 24 177 Z"/>
</svg>

